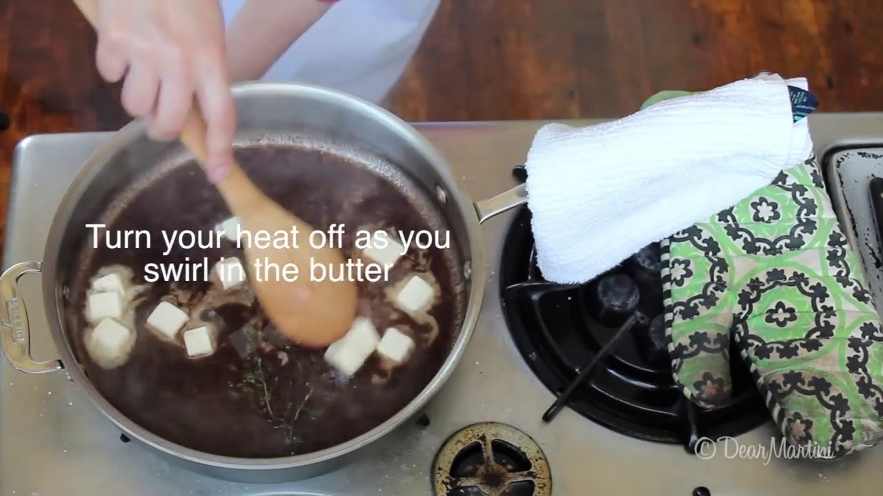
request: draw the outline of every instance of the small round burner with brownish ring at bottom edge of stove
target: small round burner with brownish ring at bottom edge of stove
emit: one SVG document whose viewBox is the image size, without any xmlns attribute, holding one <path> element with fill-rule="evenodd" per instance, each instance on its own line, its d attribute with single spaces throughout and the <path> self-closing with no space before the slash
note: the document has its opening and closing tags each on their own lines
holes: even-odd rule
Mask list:
<svg viewBox="0 0 883 496">
<path fill-rule="evenodd" d="M 435 496 L 549 496 L 552 472 L 530 436 L 511 425 L 468 425 L 433 462 Z"/>
</svg>

